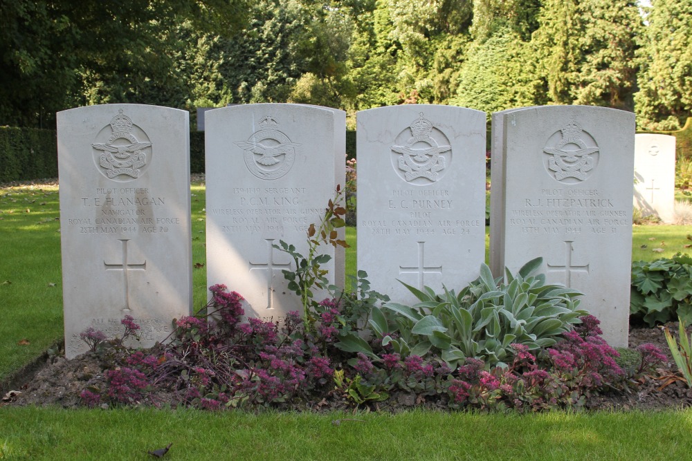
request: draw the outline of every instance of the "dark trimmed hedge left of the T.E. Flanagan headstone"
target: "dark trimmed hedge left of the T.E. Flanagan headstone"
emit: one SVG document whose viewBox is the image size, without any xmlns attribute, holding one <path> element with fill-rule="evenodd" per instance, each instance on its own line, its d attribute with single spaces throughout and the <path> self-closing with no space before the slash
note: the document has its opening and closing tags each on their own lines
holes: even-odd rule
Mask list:
<svg viewBox="0 0 692 461">
<path fill-rule="evenodd" d="M 55 177 L 55 130 L 0 126 L 0 182 Z"/>
</svg>

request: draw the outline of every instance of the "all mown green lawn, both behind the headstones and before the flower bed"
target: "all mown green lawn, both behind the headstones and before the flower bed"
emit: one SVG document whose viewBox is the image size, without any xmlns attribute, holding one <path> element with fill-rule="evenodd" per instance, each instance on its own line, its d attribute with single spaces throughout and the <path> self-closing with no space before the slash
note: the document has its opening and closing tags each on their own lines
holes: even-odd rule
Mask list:
<svg viewBox="0 0 692 461">
<path fill-rule="evenodd" d="M 206 303 L 204 206 L 204 187 L 193 184 L 195 309 Z M 633 259 L 689 252 L 690 233 L 635 226 Z M 347 229 L 347 241 L 347 274 L 354 274 L 355 229 Z M 3 381 L 62 339 L 57 187 L 0 189 L 0 255 Z M 151 459 L 147 450 L 170 442 L 165 459 L 686 459 L 692 411 L 392 416 L 0 407 L 0 460 Z"/>
</svg>

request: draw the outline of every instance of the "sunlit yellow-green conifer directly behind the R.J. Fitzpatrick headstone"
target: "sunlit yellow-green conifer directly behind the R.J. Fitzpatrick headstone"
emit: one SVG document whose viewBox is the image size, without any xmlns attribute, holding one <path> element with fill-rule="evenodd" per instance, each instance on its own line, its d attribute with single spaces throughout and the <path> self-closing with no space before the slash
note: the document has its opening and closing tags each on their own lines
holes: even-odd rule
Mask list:
<svg viewBox="0 0 692 461">
<path fill-rule="evenodd" d="M 641 17 L 635 0 L 545 0 L 532 37 L 548 99 L 632 109 Z"/>
</svg>

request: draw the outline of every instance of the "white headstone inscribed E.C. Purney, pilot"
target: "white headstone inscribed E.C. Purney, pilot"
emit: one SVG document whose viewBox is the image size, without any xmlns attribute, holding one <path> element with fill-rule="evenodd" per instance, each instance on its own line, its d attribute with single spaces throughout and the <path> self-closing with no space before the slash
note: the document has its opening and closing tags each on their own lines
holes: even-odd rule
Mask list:
<svg viewBox="0 0 692 461">
<path fill-rule="evenodd" d="M 405 105 L 357 114 L 358 270 L 392 301 L 459 289 L 484 261 L 485 113 Z"/>
</svg>

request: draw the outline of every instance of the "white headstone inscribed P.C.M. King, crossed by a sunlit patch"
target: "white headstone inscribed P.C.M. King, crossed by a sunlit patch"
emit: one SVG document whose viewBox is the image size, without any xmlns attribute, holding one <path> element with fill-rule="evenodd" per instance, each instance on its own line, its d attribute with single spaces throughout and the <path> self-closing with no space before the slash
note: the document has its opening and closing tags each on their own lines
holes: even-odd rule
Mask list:
<svg viewBox="0 0 692 461">
<path fill-rule="evenodd" d="M 242 294 L 248 316 L 277 321 L 301 310 L 282 274 L 295 265 L 272 245 L 282 240 L 307 256 L 307 229 L 320 223 L 334 197 L 336 165 L 343 162 L 334 156 L 334 118 L 334 111 L 300 104 L 206 113 L 207 281 Z M 334 282 L 334 247 L 320 253 L 332 256 L 324 268 Z"/>
</svg>

